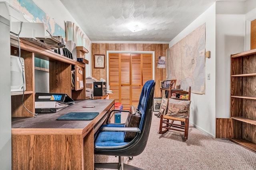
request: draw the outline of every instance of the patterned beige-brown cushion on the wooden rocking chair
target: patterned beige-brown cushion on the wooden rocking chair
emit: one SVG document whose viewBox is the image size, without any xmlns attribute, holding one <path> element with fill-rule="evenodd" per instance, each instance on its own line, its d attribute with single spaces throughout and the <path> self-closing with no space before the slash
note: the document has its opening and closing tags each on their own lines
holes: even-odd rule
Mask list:
<svg viewBox="0 0 256 170">
<path fill-rule="evenodd" d="M 176 100 L 169 98 L 168 116 L 188 118 L 191 100 Z"/>
</svg>

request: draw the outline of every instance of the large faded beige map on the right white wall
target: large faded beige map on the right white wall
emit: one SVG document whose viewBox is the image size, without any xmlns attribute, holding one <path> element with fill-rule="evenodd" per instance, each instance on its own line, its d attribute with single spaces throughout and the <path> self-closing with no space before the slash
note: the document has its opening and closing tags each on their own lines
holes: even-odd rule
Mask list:
<svg viewBox="0 0 256 170">
<path fill-rule="evenodd" d="M 168 62 L 176 88 L 205 93 L 205 23 L 169 49 Z"/>
</svg>

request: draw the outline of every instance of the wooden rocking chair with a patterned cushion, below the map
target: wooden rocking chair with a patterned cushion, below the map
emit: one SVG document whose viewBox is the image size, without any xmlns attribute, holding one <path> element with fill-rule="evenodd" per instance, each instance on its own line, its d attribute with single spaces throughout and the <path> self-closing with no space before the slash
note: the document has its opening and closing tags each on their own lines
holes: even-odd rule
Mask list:
<svg viewBox="0 0 256 170">
<path fill-rule="evenodd" d="M 170 97 L 183 96 L 180 98 L 169 98 L 168 109 L 166 115 L 160 116 L 160 127 L 158 133 L 166 133 L 169 129 L 184 132 L 184 139 L 188 139 L 189 109 L 190 109 L 190 93 L 183 90 L 170 90 Z M 174 122 L 180 121 L 180 124 Z M 164 130 L 162 130 L 164 128 Z"/>
</svg>

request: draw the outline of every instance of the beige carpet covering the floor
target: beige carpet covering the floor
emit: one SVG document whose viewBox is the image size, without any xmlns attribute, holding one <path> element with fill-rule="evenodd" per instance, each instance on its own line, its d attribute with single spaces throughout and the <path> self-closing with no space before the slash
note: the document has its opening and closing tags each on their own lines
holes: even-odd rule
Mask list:
<svg viewBox="0 0 256 170">
<path fill-rule="evenodd" d="M 158 134 L 160 118 L 153 113 L 148 143 L 142 154 L 127 164 L 144 170 L 256 170 L 256 153 L 228 140 L 215 140 L 189 127 L 183 133 Z M 95 162 L 118 162 L 115 156 L 95 155 Z"/>
</svg>

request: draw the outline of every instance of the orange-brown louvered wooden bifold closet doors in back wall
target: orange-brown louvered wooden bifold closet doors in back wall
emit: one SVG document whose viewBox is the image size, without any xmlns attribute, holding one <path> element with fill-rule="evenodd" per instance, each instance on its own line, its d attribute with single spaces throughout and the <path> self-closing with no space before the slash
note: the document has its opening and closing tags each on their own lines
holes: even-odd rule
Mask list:
<svg viewBox="0 0 256 170">
<path fill-rule="evenodd" d="M 138 106 L 142 86 L 152 79 L 152 54 L 109 53 L 110 99 L 123 109 Z"/>
</svg>

